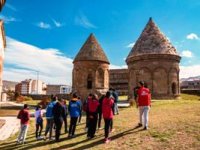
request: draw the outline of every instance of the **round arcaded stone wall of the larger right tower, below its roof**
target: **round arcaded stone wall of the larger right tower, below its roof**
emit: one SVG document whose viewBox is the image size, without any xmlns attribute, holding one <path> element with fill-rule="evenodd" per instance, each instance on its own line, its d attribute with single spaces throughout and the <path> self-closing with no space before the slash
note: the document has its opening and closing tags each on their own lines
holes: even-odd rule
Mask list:
<svg viewBox="0 0 200 150">
<path fill-rule="evenodd" d="M 178 59 L 178 58 L 177 58 Z M 139 81 L 145 81 L 154 98 L 170 98 L 180 94 L 179 60 L 168 55 L 149 55 L 128 64 L 129 96 Z"/>
</svg>

